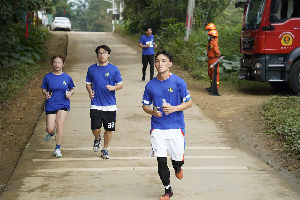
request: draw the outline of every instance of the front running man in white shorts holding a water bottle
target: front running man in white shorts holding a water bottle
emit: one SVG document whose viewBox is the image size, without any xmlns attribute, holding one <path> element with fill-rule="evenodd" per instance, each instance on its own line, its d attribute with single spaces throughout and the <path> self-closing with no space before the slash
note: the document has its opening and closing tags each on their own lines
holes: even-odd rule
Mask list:
<svg viewBox="0 0 300 200">
<path fill-rule="evenodd" d="M 142 101 L 143 110 L 152 115 L 150 129 L 152 150 L 149 157 L 157 157 L 158 174 L 165 187 L 165 194 L 160 200 L 173 198 L 167 152 L 171 157 L 176 177 L 183 178 L 185 147 L 183 111 L 193 105 L 185 81 L 169 71 L 172 58 L 172 53 L 167 50 L 156 54 L 155 68 L 158 75 L 146 84 Z M 151 104 L 153 109 L 150 108 Z"/>
</svg>

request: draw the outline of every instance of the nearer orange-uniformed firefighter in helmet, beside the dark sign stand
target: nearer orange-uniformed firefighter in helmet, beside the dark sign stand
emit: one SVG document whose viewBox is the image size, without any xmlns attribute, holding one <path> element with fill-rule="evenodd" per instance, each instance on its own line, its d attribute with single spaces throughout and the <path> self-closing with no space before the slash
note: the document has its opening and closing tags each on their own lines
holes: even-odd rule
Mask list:
<svg viewBox="0 0 300 200">
<path fill-rule="evenodd" d="M 208 76 L 210 78 L 210 84 L 212 85 L 212 79 L 213 79 L 213 74 L 214 74 L 214 66 L 210 68 L 209 66 L 212 65 L 214 62 L 217 61 L 218 58 L 220 58 L 221 53 L 219 51 L 219 44 L 218 44 L 218 36 L 219 33 L 217 30 L 211 30 L 208 32 L 209 36 L 209 41 L 207 44 L 207 60 L 208 60 Z M 219 65 L 217 68 L 217 89 L 219 89 Z M 211 87 L 207 88 L 207 92 L 211 92 Z"/>
</svg>

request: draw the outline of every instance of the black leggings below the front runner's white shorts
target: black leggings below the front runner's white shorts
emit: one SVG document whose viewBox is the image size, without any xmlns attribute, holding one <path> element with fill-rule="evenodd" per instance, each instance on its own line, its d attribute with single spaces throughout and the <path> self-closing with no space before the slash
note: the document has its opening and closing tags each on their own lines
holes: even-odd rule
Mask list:
<svg viewBox="0 0 300 200">
<path fill-rule="evenodd" d="M 170 184 L 170 170 L 167 165 L 167 158 L 165 157 L 157 157 L 158 162 L 158 175 L 161 178 L 161 182 L 164 186 L 168 186 Z M 184 161 L 175 161 L 172 160 L 173 167 L 181 167 L 184 164 Z"/>
</svg>

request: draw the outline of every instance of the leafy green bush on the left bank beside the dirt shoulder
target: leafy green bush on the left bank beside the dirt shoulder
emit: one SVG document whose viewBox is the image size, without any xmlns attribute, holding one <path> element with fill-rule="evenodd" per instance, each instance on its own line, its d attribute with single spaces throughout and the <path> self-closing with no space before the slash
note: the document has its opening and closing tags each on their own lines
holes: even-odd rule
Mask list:
<svg viewBox="0 0 300 200">
<path fill-rule="evenodd" d="M 12 42 L 9 47 L 1 49 L 1 100 L 9 99 L 22 89 L 41 68 L 37 61 L 47 56 L 43 44 L 51 35 L 47 30 L 33 27 L 29 27 L 28 38 L 25 38 L 23 26 L 15 26 L 13 31 L 19 42 Z"/>
</svg>

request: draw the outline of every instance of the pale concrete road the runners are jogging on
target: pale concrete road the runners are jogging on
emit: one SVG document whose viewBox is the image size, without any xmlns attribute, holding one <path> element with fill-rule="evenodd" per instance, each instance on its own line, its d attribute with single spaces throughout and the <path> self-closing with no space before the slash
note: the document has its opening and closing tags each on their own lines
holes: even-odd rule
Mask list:
<svg viewBox="0 0 300 200">
<path fill-rule="evenodd" d="M 156 158 L 148 157 L 151 116 L 141 104 L 147 83 L 142 81 L 141 54 L 109 33 L 67 35 L 64 72 L 73 78 L 75 95 L 70 99 L 71 110 L 64 126 L 63 157 L 53 155 L 54 138 L 44 142 L 43 114 L 1 199 L 159 199 L 164 186 L 158 176 Z M 95 49 L 99 44 L 110 46 L 109 62 L 120 69 L 123 78 L 123 89 L 116 92 L 118 111 L 116 131 L 109 146 L 110 159 L 102 159 L 100 151 L 92 150 L 90 99 L 85 89 L 87 69 L 98 62 Z M 195 103 L 184 115 L 186 150 L 182 180 L 175 177 L 168 162 L 174 199 L 299 199 L 299 188 L 242 146 Z"/>
</svg>

